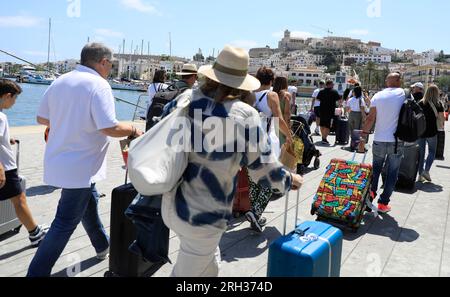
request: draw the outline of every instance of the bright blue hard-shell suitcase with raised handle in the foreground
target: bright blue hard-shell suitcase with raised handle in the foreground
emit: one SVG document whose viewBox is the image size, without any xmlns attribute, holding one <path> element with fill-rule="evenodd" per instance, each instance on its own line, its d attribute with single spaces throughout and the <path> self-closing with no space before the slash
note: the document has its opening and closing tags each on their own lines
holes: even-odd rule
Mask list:
<svg viewBox="0 0 450 297">
<path fill-rule="evenodd" d="M 342 240 L 342 231 L 331 225 L 304 222 L 271 244 L 267 276 L 339 277 Z"/>
</svg>

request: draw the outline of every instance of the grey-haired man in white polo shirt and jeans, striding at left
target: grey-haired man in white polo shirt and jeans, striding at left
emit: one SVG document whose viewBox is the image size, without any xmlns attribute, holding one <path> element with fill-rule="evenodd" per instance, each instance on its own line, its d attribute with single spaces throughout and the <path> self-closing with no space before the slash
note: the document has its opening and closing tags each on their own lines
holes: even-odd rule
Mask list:
<svg viewBox="0 0 450 297">
<path fill-rule="evenodd" d="M 110 137 L 138 137 L 142 132 L 116 119 L 114 96 L 106 78 L 112 51 L 86 45 L 81 65 L 47 90 L 38 123 L 51 127 L 44 158 L 45 183 L 62 188 L 56 217 L 28 270 L 30 277 L 50 276 L 72 233 L 81 222 L 97 258 L 109 253 L 109 238 L 98 215 L 95 184 L 106 178 Z"/>
</svg>

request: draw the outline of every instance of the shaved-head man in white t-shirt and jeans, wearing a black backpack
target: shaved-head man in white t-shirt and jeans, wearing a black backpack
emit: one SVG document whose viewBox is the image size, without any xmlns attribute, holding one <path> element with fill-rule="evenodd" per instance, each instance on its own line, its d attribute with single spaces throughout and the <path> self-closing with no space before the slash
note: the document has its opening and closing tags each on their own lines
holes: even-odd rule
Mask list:
<svg viewBox="0 0 450 297">
<path fill-rule="evenodd" d="M 398 172 L 403 158 L 403 143 L 399 142 L 395 150 L 395 132 L 403 103 L 406 100 L 405 91 L 401 88 L 402 81 L 399 73 L 391 73 L 386 78 L 387 89 L 377 93 L 372 98 L 370 114 L 366 120 L 361 137 L 360 151 L 364 150 L 366 137 L 375 125 L 373 143 L 373 183 L 371 198 L 375 199 L 378 192 L 378 180 L 383 168 L 387 168 L 384 191 L 378 200 L 380 213 L 391 211 L 390 198 L 394 192 L 398 179 Z"/>
</svg>

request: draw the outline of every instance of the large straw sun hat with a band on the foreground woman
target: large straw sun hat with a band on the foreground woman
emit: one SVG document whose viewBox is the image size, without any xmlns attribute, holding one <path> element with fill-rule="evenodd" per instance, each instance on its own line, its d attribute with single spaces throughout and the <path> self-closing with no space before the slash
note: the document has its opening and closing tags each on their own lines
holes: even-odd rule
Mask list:
<svg viewBox="0 0 450 297">
<path fill-rule="evenodd" d="M 200 67 L 199 74 L 238 90 L 254 91 L 261 87 L 258 79 L 248 74 L 250 57 L 240 48 L 225 46 L 214 65 Z"/>
</svg>

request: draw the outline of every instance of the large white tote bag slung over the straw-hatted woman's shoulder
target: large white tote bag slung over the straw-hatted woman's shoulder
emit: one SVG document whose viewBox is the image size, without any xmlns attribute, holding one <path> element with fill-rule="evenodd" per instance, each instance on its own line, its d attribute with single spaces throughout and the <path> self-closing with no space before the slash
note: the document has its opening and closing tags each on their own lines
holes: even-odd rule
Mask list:
<svg viewBox="0 0 450 297">
<path fill-rule="evenodd" d="M 183 93 L 171 114 L 131 143 L 128 171 L 140 194 L 165 194 L 179 184 L 191 148 L 187 117 L 191 95 L 192 91 Z"/>
</svg>

